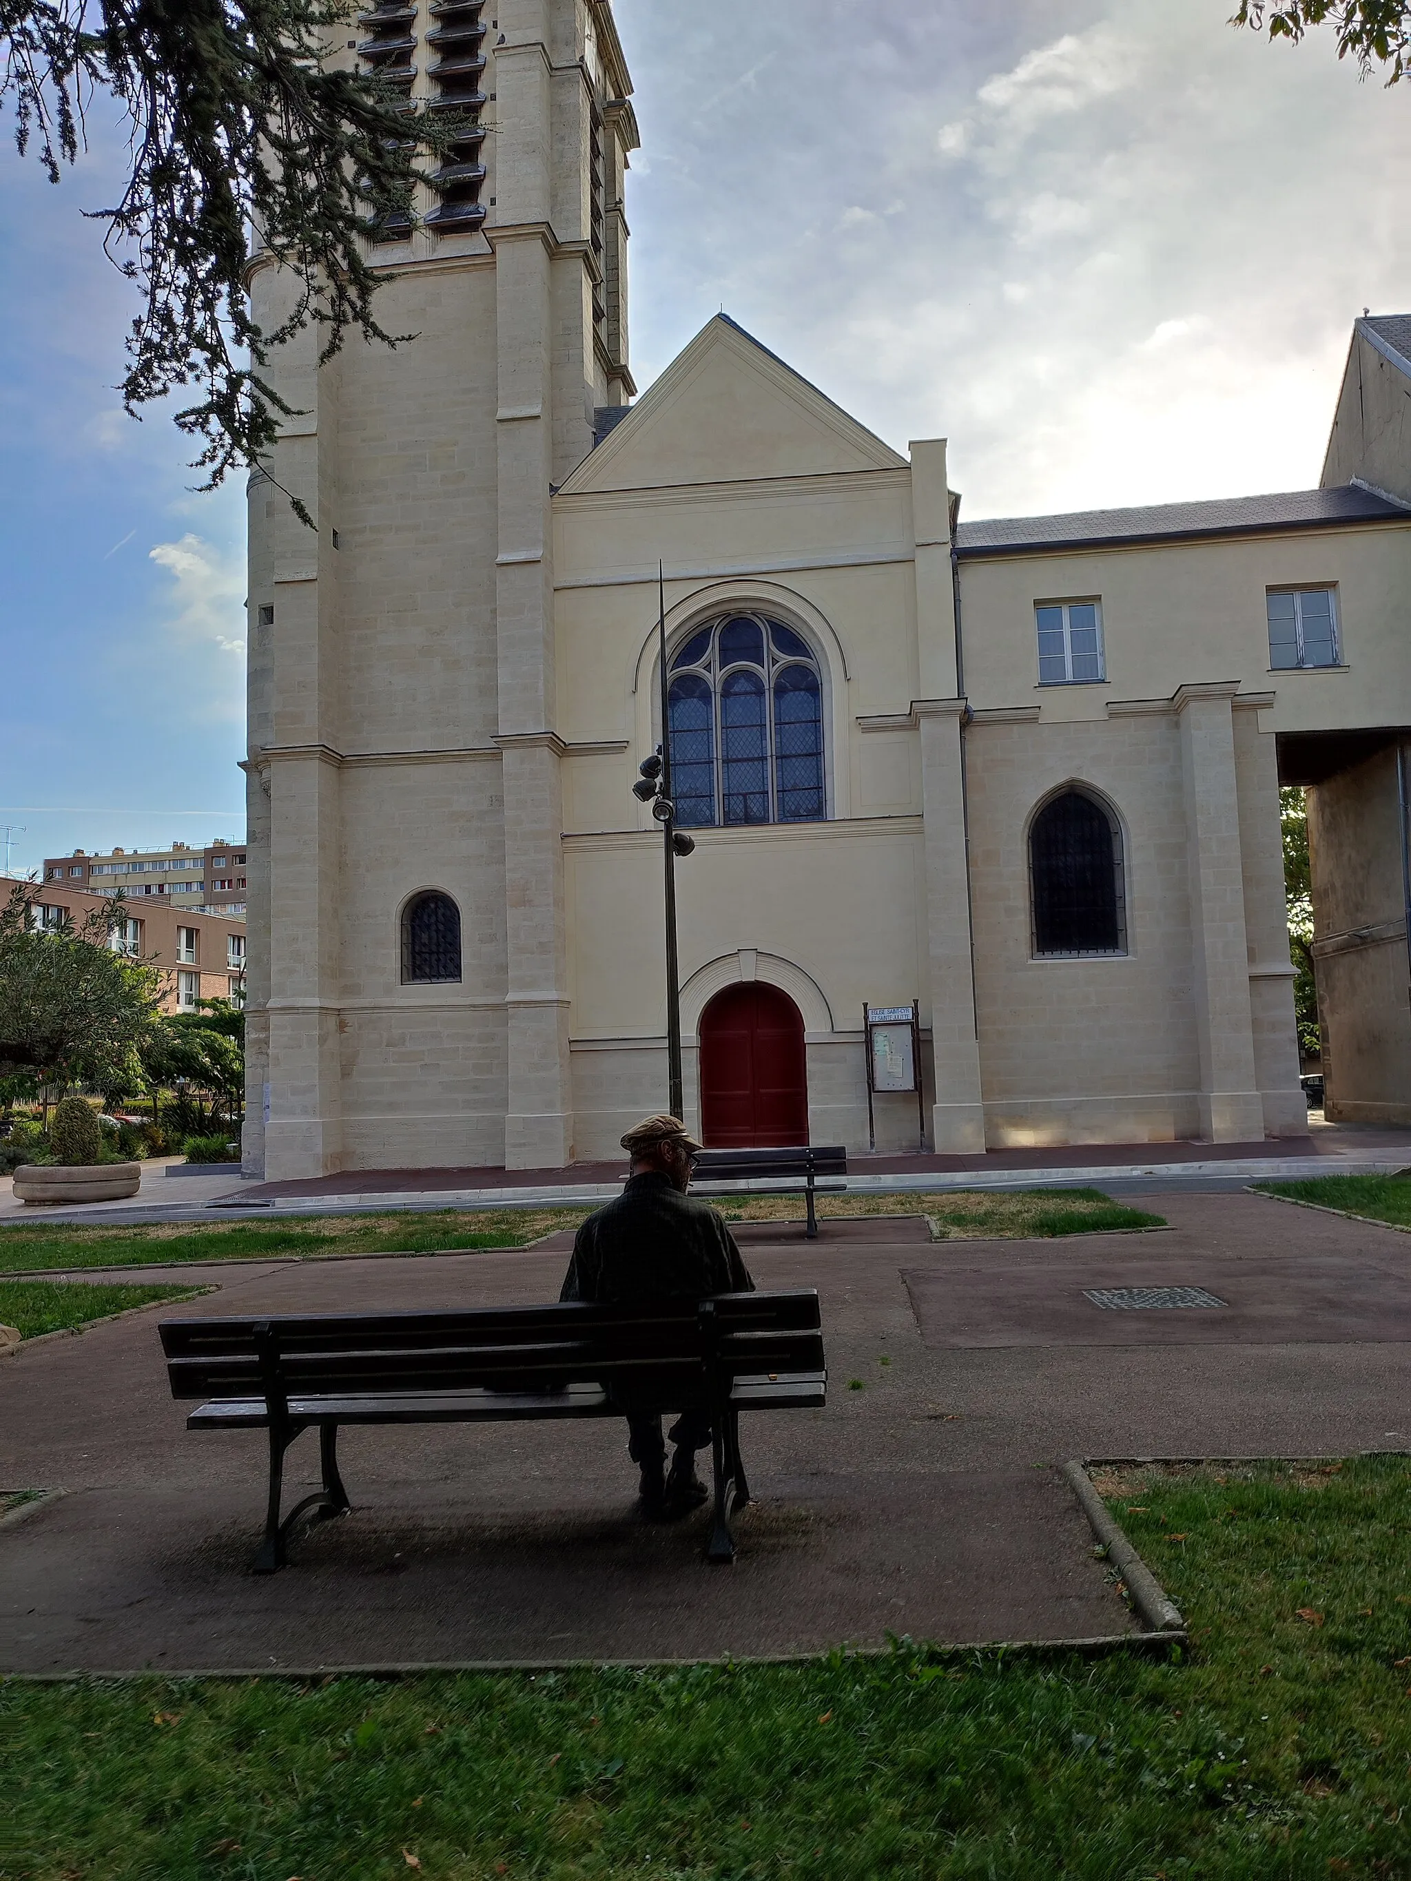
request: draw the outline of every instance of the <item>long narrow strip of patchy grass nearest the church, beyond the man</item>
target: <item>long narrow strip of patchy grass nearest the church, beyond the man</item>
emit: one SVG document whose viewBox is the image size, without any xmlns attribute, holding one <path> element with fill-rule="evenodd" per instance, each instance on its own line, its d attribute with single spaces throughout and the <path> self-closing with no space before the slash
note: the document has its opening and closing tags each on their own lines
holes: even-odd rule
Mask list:
<svg viewBox="0 0 1411 1881">
<path fill-rule="evenodd" d="M 798 1196 L 721 1202 L 730 1221 L 801 1219 Z M 448 1249 L 525 1247 L 576 1228 L 587 1208 L 436 1209 L 389 1215 L 301 1215 L 297 1221 L 169 1221 L 139 1228 L 24 1223 L 0 1228 L 0 1273 L 56 1268 L 137 1268 L 192 1260 L 260 1260 L 265 1255 L 425 1255 Z M 973 1236 L 1091 1234 L 1161 1226 L 1161 1215 L 1123 1208 L 1097 1189 L 986 1194 L 841 1194 L 820 1215 L 927 1215 L 941 1240 Z"/>
</svg>

